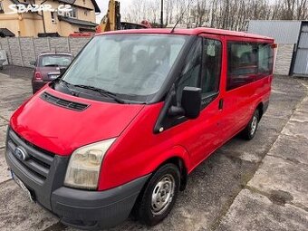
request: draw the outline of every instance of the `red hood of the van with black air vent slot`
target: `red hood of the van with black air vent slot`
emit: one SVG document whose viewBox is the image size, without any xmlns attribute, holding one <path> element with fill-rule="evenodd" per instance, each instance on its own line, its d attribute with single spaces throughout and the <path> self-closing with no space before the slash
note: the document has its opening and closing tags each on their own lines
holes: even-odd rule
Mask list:
<svg viewBox="0 0 308 231">
<path fill-rule="evenodd" d="M 43 100 L 44 92 L 88 107 L 84 111 L 64 108 Z M 91 101 L 44 88 L 14 112 L 10 124 L 24 140 L 54 154 L 68 156 L 84 145 L 120 136 L 143 107 Z"/>
</svg>

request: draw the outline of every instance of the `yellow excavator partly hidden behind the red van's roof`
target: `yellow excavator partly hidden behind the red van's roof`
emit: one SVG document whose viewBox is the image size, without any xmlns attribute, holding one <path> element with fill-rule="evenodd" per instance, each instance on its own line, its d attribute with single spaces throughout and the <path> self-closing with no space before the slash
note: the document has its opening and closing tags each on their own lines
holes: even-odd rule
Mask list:
<svg viewBox="0 0 308 231">
<path fill-rule="evenodd" d="M 101 24 L 96 27 L 96 33 L 150 27 L 149 22 L 146 20 L 142 21 L 141 24 L 120 22 L 120 2 L 110 0 L 107 14 L 101 19 Z"/>
</svg>

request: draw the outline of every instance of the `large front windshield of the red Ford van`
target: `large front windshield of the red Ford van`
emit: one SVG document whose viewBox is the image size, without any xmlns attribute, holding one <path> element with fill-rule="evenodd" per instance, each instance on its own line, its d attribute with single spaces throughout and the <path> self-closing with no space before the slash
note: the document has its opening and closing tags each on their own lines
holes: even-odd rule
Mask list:
<svg viewBox="0 0 308 231">
<path fill-rule="evenodd" d="M 188 36 L 113 34 L 94 37 L 63 75 L 122 99 L 147 101 L 159 91 Z"/>
</svg>

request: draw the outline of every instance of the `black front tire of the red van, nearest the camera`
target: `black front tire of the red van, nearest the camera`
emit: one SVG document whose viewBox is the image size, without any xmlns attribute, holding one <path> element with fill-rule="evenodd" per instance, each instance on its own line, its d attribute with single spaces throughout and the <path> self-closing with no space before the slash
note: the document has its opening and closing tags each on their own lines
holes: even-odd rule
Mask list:
<svg viewBox="0 0 308 231">
<path fill-rule="evenodd" d="M 172 197 L 168 197 L 168 204 L 163 207 L 163 209 L 158 211 L 154 211 L 155 209 L 158 209 L 158 207 L 152 206 L 152 194 L 154 193 L 154 189 L 156 191 L 160 190 L 158 189 L 159 182 L 162 182 L 162 180 L 170 178 L 169 183 L 172 181 L 172 178 L 174 179 L 174 193 Z M 168 181 L 167 185 L 168 185 Z M 176 203 L 177 197 L 178 197 L 178 191 L 179 191 L 179 184 L 180 184 L 180 173 L 178 170 L 178 167 L 174 164 L 166 164 L 162 167 L 160 167 L 150 178 L 149 183 L 147 186 L 142 190 L 140 193 L 140 196 L 136 202 L 136 205 L 133 209 L 133 216 L 136 217 L 140 223 L 145 224 L 147 226 L 155 226 L 159 224 L 160 221 L 162 221 L 164 218 L 168 216 L 168 213 L 171 211 L 172 207 Z M 164 184 L 166 185 L 166 184 Z M 170 184 L 171 185 L 171 184 Z M 171 187 L 170 187 L 171 188 Z M 164 190 L 165 188 L 162 188 Z M 166 190 L 168 191 L 168 190 Z M 170 189 L 171 191 L 171 189 Z M 158 193 L 157 193 L 158 194 Z M 168 193 L 166 193 L 167 195 Z M 160 195 L 160 194 L 159 194 Z M 171 195 L 171 194 L 169 194 Z M 159 197 L 161 198 L 161 197 Z M 164 204 L 166 202 L 162 202 Z"/>
</svg>

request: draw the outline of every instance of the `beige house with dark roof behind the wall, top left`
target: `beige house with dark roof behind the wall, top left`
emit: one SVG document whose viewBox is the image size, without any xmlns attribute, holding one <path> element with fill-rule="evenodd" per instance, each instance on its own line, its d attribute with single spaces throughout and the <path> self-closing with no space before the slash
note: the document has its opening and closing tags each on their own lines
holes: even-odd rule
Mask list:
<svg viewBox="0 0 308 231">
<path fill-rule="evenodd" d="M 51 5 L 57 11 L 13 14 L 12 5 L 24 5 L 28 9 L 33 5 Z M 59 6 L 63 9 L 64 5 L 71 5 L 72 11 L 58 11 Z M 7 31 L 16 37 L 94 32 L 97 26 L 96 13 L 100 12 L 95 0 L 0 0 L 0 30 L 4 31 L 0 36 L 10 36 Z"/>
</svg>

